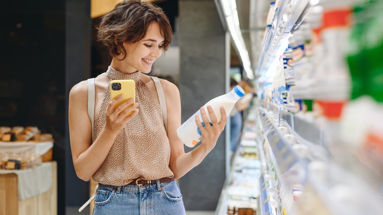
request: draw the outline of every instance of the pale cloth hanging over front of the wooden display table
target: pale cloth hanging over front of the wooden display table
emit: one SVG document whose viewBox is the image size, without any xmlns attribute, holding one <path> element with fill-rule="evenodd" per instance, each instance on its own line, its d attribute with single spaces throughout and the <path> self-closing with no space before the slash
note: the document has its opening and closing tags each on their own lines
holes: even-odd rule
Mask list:
<svg viewBox="0 0 383 215">
<path fill-rule="evenodd" d="M 47 192 L 52 186 L 52 163 L 43 162 L 32 169 L 5 170 L 0 174 L 15 173 L 19 200 L 27 199 L 40 193 Z"/>
</svg>

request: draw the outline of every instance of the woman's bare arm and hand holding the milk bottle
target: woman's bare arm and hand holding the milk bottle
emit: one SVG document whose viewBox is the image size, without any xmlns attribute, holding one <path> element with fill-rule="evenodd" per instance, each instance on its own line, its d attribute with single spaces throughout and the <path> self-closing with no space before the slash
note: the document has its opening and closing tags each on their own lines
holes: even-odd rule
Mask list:
<svg viewBox="0 0 383 215">
<path fill-rule="evenodd" d="M 181 178 L 192 168 L 201 163 L 206 155 L 215 147 L 219 134 L 223 131 L 226 124 L 226 113 L 221 107 L 222 119 L 217 123 L 217 119 L 212 108 L 208 108 L 213 126 L 203 129 L 201 144 L 194 148 L 191 152 L 185 153 L 184 144 L 177 135 L 177 128 L 181 126 L 181 99 L 180 93 L 176 85 L 171 82 L 161 80 L 164 86 L 164 94 L 167 106 L 167 136 L 170 143 L 170 162 L 169 167 L 174 173 L 175 178 Z M 208 118 L 204 109 L 201 109 L 202 119 L 205 125 L 209 125 Z M 199 119 L 196 118 L 197 125 L 201 125 Z"/>
</svg>

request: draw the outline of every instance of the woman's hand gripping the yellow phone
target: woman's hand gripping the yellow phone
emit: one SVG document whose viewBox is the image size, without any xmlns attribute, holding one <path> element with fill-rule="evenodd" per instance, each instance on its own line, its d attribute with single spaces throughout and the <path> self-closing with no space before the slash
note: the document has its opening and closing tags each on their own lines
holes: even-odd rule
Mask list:
<svg viewBox="0 0 383 215">
<path fill-rule="evenodd" d="M 118 134 L 118 132 L 120 132 L 125 127 L 126 123 L 128 123 L 129 120 L 135 117 L 138 113 L 138 103 L 134 103 L 133 98 L 127 100 L 126 102 L 118 106 L 116 109 L 114 109 L 116 103 L 122 98 L 123 96 L 121 94 L 114 98 L 112 101 L 110 101 L 106 111 L 107 123 L 105 125 L 105 128 L 109 130 L 109 132 L 114 132 L 116 134 Z M 130 105 L 132 106 L 129 107 Z M 132 113 L 127 115 L 130 112 Z"/>
</svg>

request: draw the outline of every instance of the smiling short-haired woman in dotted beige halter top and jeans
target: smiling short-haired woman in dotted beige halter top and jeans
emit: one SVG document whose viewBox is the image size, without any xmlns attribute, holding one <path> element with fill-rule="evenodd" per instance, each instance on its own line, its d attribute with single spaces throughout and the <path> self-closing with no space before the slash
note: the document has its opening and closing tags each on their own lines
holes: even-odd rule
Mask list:
<svg viewBox="0 0 383 215">
<path fill-rule="evenodd" d="M 167 128 L 153 80 L 145 75 L 166 51 L 172 30 L 161 8 L 149 2 L 124 0 L 106 14 L 98 27 L 98 39 L 111 54 L 106 72 L 95 78 L 95 115 L 92 125 L 87 112 L 88 86 L 82 81 L 69 95 L 69 130 L 76 174 L 84 181 L 99 183 L 94 214 L 185 214 L 180 189 L 174 179 L 198 165 L 215 147 L 226 124 L 221 107 L 220 123 L 211 107 L 201 108 L 201 144 L 189 153 L 176 134 L 181 125 L 178 88 L 160 80 L 167 105 Z M 109 81 L 136 81 L 136 103 L 110 101 Z M 130 105 L 132 105 L 129 107 Z M 124 111 L 120 112 L 124 108 Z M 125 117 L 131 111 L 132 114 Z"/>
</svg>

